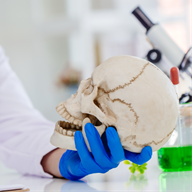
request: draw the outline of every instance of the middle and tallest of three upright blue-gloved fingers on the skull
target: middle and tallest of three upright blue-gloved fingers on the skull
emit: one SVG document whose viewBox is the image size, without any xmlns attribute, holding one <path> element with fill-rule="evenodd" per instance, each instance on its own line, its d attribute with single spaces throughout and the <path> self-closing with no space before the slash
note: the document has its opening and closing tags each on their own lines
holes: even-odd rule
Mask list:
<svg viewBox="0 0 192 192">
<path fill-rule="evenodd" d="M 105 148 L 103 146 L 103 143 L 101 141 L 97 129 L 91 123 L 87 123 L 85 125 L 85 133 L 87 136 L 87 140 L 89 142 L 89 146 L 91 148 L 92 155 L 96 163 L 100 167 L 109 166 L 110 160 L 105 151 Z"/>
</svg>

